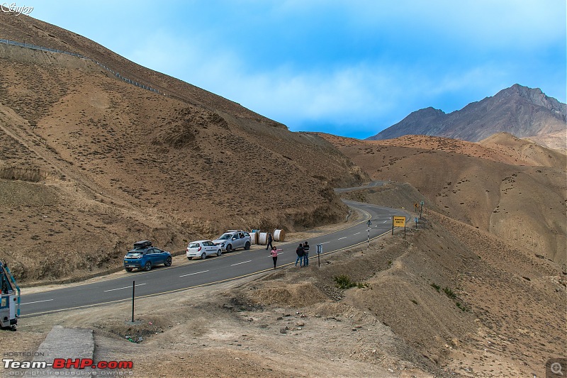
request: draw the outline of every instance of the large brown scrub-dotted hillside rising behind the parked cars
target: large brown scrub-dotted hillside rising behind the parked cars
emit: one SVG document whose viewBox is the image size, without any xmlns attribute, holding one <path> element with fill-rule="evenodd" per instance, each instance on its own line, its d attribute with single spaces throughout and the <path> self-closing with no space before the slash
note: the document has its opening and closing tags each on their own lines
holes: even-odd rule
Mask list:
<svg viewBox="0 0 567 378">
<path fill-rule="evenodd" d="M 227 228 L 332 223 L 347 211 L 332 187 L 366 179 L 316 135 L 56 26 L 0 21 L 2 39 L 159 89 L 0 43 L 0 258 L 23 282 L 114 269 L 145 238 L 176 252 Z"/>
</svg>

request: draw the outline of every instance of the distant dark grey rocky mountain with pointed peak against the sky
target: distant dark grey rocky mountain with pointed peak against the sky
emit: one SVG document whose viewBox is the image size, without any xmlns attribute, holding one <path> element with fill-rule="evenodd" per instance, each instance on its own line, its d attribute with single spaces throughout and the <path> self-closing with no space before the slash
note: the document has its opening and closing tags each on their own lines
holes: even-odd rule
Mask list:
<svg viewBox="0 0 567 378">
<path fill-rule="evenodd" d="M 514 84 L 449 114 L 431 107 L 414 111 L 368 139 L 420 134 L 478 142 L 498 132 L 530 138 L 565 152 L 567 105 L 546 96 L 539 88 Z"/>
</svg>

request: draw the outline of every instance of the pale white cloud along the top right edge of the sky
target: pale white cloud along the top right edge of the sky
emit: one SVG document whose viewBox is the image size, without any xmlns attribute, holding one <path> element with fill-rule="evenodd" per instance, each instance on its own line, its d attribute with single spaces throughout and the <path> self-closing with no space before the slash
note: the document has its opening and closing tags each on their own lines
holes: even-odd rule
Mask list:
<svg viewBox="0 0 567 378">
<path fill-rule="evenodd" d="M 361 28 L 485 48 L 533 48 L 564 40 L 565 0 L 360 0 L 342 3 Z M 348 5 L 347 5 L 348 4 Z"/>
</svg>

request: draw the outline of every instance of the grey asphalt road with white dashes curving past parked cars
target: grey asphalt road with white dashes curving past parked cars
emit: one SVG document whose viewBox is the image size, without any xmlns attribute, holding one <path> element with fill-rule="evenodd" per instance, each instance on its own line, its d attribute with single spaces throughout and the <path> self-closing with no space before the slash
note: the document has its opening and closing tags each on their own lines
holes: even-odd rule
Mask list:
<svg viewBox="0 0 567 378">
<path fill-rule="evenodd" d="M 344 230 L 308 239 L 311 246 L 310 265 L 317 265 L 317 253 L 315 252 L 315 245 L 317 244 L 322 244 L 321 260 L 325 261 L 325 255 L 331 252 L 366 243 L 368 219 L 371 220 L 370 239 L 391 232 L 392 216 L 405 216 L 407 221 L 410 220 L 410 215 L 401 210 L 354 201 L 344 202 L 354 209 L 364 211 L 367 218 Z M 296 243 L 276 243 L 276 245 L 278 248 L 283 248 L 278 254 L 278 267 L 295 264 L 297 257 Z M 267 250 L 263 248 L 260 250 L 237 250 L 220 257 L 208 257 L 206 260 L 186 262 L 183 265 L 158 266 L 150 272 L 133 272 L 128 274 L 127 277 L 44 291 L 43 293 L 26 294 L 21 297 L 21 316 L 34 316 L 71 308 L 128 301 L 132 298 L 133 281 L 135 281 L 135 296 L 140 298 L 186 289 L 198 290 L 198 287 L 269 272 L 273 269 L 274 265 Z"/>
</svg>

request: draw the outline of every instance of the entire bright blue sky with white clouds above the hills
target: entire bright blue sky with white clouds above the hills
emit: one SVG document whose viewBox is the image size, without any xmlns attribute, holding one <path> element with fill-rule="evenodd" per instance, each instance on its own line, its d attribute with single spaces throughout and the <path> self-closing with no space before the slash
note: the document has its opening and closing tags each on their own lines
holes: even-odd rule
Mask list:
<svg viewBox="0 0 567 378">
<path fill-rule="evenodd" d="M 515 83 L 566 102 L 565 0 L 16 4 L 292 131 L 366 138 Z"/>
</svg>

